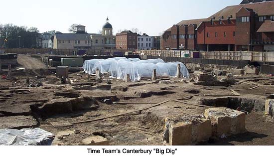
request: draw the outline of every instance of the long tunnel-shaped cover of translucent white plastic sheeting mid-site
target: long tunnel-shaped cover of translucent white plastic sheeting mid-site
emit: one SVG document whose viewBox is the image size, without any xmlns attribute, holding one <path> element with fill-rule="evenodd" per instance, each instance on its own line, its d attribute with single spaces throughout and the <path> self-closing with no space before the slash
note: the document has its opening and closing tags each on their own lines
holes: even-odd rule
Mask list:
<svg viewBox="0 0 274 158">
<path fill-rule="evenodd" d="M 180 71 L 184 78 L 189 77 L 186 66 L 181 62 L 165 63 L 162 59 L 93 59 L 85 61 L 83 68 L 86 73 L 95 73 L 96 68 L 101 73 L 110 73 L 112 78 L 125 79 L 126 74 L 130 75 L 132 81 L 139 81 L 141 77 L 151 77 L 153 69 L 156 69 L 157 76 L 176 76 L 177 64 L 180 64 Z"/>
</svg>

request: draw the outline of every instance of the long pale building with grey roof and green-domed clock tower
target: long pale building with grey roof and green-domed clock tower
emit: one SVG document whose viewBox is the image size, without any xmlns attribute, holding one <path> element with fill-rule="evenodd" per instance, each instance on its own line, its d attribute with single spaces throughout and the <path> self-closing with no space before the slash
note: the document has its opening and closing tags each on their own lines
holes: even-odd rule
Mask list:
<svg viewBox="0 0 274 158">
<path fill-rule="evenodd" d="M 86 26 L 77 25 L 75 33 L 56 33 L 54 35 L 54 49 L 74 49 L 92 52 L 105 52 L 116 49 L 116 36 L 107 17 L 102 27 L 102 33 L 87 33 Z"/>
</svg>

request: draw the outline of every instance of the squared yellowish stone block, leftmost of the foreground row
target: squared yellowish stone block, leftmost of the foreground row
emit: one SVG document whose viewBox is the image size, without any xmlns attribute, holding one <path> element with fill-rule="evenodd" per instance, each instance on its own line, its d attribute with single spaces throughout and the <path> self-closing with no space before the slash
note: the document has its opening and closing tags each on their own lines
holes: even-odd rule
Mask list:
<svg viewBox="0 0 274 158">
<path fill-rule="evenodd" d="M 192 124 L 180 122 L 171 124 L 169 128 L 169 145 L 183 146 L 191 145 Z"/>
</svg>

